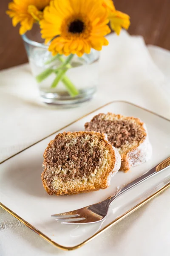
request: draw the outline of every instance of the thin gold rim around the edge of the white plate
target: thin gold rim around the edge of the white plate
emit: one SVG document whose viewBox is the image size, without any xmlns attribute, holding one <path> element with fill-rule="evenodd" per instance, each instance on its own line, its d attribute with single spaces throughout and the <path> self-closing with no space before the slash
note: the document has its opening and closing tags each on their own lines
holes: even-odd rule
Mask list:
<svg viewBox="0 0 170 256">
<path fill-rule="evenodd" d="M 67 128 L 69 125 L 72 125 L 74 124 L 75 122 L 83 119 L 84 117 L 88 116 L 89 114 L 91 113 L 94 113 L 95 111 L 101 109 L 101 108 L 104 108 L 105 106 L 108 106 L 112 103 L 115 103 L 115 102 L 122 102 L 122 103 L 127 103 L 129 105 L 133 105 L 137 108 L 141 108 L 143 109 L 144 111 L 147 111 L 149 113 L 152 113 L 156 116 L 159 116 L 167 121 L 170 121 L 170 119 L 167 119 L 165 118 L 164 116 L 161 116 L 157 113 L 154 113 L 153 111 L 150 111 L 150 110 L 147 110 L 146 108 L 142 108 L 138 105 L 135 105 L 133 103 L 130 103 L 130 102 L 126 102 L 126 101 L 112 101 L 112 102 L 109 102 L 97 109 L 95 109 L 94 111 L 91 111 L 90 113 L 88 114 L 85 114 L 84 116 L 80 117 L 79 119 L 75 120 L 74 122 L 71 122 L 70 124 L 60 128 L 58 131 L 55 131 L 53 132 L 52 134 L 46 136 L 45 138 L 37 141 L 36 143 L 28 146 L 27 148 L 24 148 L 22 151 L 19 151 L 17 152 L 16 154 L 12 155 L 11 157 L 14 157 L 16 156 L 17 154 L 20 154 L 21 152 L 25 151 L 26 149 L 32 147 L 33 145 L 41 142 L 42 140 L 45 140 L 46 138 L 50 137 L 51 135 Z M 3 160 L 1 163 L 4 163 L 5 161 L 7 161 L 8 159 L 10 159 L 11 157 L 8 157 L 7 159 Z M 1 164 L 0 163 L 0 164 Z M 142 202 L 140 202 L 139 204 L 137 204 L 136 206 L 132 207 L 130 210 L 128 210 L 127 212 L 123 213 L 122 215 L 120 215 L 118 218 L 116 218 L 114 221 L 112 221 L 111 223 L 109 223 L 107 226 L 103 227 L 101 230 L 99 230 L 98 232 L 96 232 L 93 236 L 90 236 L 88 239 L 86 239 L 85 241 L 83 241 L 82 243 L 80 244 L 77 244 L 75 246 L 72 246 L 72 247 L 67 247 L 67 246 L 62 246 L 61 244 L 58 244 L 56 242 L 54 242 L 53 240 L 51 240 L 50 238 L 48 238 L 48 236 L 45 236 L 45 234 L 43 234 L 40 230 L 37 230 L 36 227 L 32 226 L 30 223 L 28 223 L 27 221 L 25 221 L 23 218 L 21 218 L 20 216 L 18 216 L 15 212 L 11 211 L 11 209 L 8 209 L 8 207 L 6 207 L 4 204 L 0 203 L 0 207 L 2 209 L 4 209 L 6 212 L 8 212 L 9 214 L 11 214 L 12 216 L 14 216 L 15 218 L 17 218 L 17 220 L 21 221 L 23 224 L 25 224 L 27 227 L 29 227 L 31 230 L 33 230 L 35 233 L 37 233 L 39 236 L 41 236 L 43 239 L 45 239 L 46 241 L 48 241 L 49 243 L 53 244 L 55 247 L 59 248 L 59 249 L 62 249 L 62 250 L 75 250 L 75 249 L 78 249 L 79 247 L 82 247 L 82 245 L 85 245 L 87 244 L 88 242 L 90 242 L 91 240 L 93 240 L 95 237 L 99 236 L 100 234 L 102 234 L 104 231 L 108 230 L 110 227 L 112 227 L 113 225 L 115 225 L 116 223 L 118 223 L 119 221 L 121 221 L 123 218 L 127 217 L 128 215 L 130 215 L 130 213 L 136 211 L 137 209 L 139 209 L 140 207 L 142 207 L 144 204 L 146 204 L 147 202 L 149 202 L 150 200 L 152 200 L 153 198 L 155 198 L 157 195 L 159 195 L 161 192 L 165 191 L 167 188 L 170 187 L 170 182 L 167 183 L 165 186 L 163 186 L 161 189 L 159 189 L 157 192 L 155 192 L 154 194 L 150 195 L 148 198 L 144 199 Z"/>
</svg>

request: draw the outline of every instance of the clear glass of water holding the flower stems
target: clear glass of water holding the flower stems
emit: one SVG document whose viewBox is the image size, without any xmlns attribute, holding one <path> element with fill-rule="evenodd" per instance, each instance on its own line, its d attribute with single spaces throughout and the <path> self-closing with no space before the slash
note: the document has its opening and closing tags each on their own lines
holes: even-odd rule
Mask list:
<svg viewBox="0 0 170 256">
<path fill-rule="evenodd" d="M 99 52 L 91 49 L 90 54 L 82 57 L 52 56 L 39 34 L 33 30 L 22 38 L 42 102 L 71 107 L 90 100 L 96 92 L 99 79 Z M 64 65 L 67 58 L 71 60 Z M 64 75 L 59 80 L 57 77 L 61 73 Z"/>
</svg>

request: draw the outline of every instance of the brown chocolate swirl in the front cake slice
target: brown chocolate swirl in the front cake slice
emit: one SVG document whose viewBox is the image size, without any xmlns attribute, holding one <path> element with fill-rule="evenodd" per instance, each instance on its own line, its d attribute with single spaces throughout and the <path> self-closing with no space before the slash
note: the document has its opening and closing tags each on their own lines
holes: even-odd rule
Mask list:
<svg viewBox="0 0 170 256">
<path fill-rule="evenodd" d="M 73 180 L 77 177 L 87 177 L 99 169 L 101 163 L 102 151 L 97 146 L 92 147 L 94 138 L 90 137 L 85 140 L 85 135 L 71 139 L 70 137 L 63 140 L 62 136 L 57 137 L 53 147 L 48 149 L 47 163 L 59 172 L 46 173 L 46 179 L 53 177 L 62 179 L 63 182 Z M 50 182 L 48 185 L 50 186 Z"/>
</svg>

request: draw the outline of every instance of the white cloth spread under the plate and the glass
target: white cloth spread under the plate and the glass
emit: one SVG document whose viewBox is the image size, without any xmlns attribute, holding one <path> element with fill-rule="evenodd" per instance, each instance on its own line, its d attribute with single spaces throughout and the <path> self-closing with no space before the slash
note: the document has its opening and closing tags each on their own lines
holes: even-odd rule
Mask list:
<svg viewBox="0 0 170 256">
<path fill-rule="evenodd" d="M 108 39 L 101 52 L 96 98 L 80 108 L 55 110 L 38 103 L 28 64 L 0 72 L 0 160 L 112 100 L 130 101 L 170 118 L 170 53 L 150 46 L 148 51 L 142 37 L 125 31 Z M 71 252 L 48 244 L 0 209 L 0 256 L 169 256 L 169 198 L 170 189 Z"/>
</svg>

